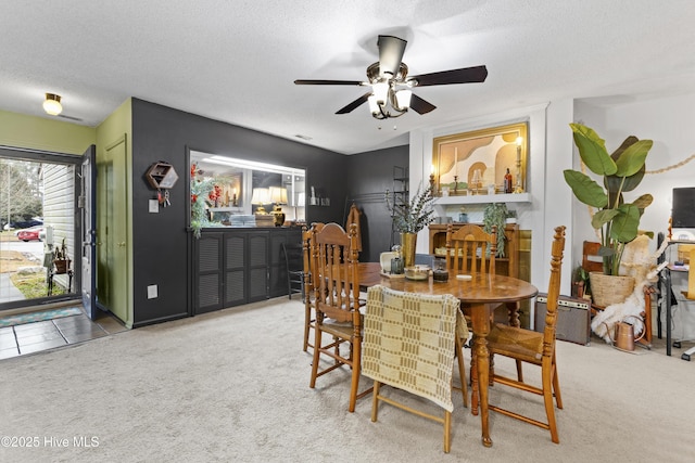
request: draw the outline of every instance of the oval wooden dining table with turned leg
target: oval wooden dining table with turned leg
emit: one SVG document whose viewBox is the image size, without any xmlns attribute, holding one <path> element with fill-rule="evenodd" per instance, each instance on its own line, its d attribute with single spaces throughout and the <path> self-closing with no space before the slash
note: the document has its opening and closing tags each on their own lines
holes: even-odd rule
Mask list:
<svg viewBox="0 0 695 463">
<path fill-rule="evenodd" d="M 459 280 L 456 272 L 450 270 L 448 280 L 445 282 L 433 281 L 430 275 L 427 280 L 408 280 L 406 278 L 388 278 L 381 274 L 379 262 L 359 262 L 357 273 L 359 285 L 369 287 L 380 284 L 396 291 L 419 293 L 429 295 L 452 294 L 462 304 L 470 308 L 473 348 L 476 356 L 476 371 L 473 375 L 471 412 L 478 414 L 480 404 L 480 421 L 482 426 L 482 443 L 492 447 L 489 426 L 488 385 L 490 380 L 490 351 L 488 350 L 486 336 L 490 333 L 490 320 L 495 307 L 501 304 L 516 307 L 516 303 L 530 299 L 538 294 L 538 288 L 531 283 L 513 276 L 473 273 L 469 279 Z M 514 316 L 510 313 L 510 319 Z M 516 318 L 518 324 L 518 317 Z"/>
</svg>

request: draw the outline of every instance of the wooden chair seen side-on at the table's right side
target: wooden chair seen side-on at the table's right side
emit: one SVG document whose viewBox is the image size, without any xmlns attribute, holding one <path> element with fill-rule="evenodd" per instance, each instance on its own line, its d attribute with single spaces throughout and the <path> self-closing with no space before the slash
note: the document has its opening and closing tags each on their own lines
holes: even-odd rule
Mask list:
<svg viewBox="0 0 695 463">
<path fill-rule="evenodd" d="M 529 384 L 522 380 L 513 380 L 491 372 L 494 383 L 511 386 L 528 393 L 543 397 L 547 422 L 541 422 L 519 413 L 489 404 L 489 409 L 495 412 L 515 417 L 526 423 L 549 429 L 551 439 L 559 443 L 557 423 L 553 397 L 558 409 L 563 408 L 560 397 L 560 384 L 557 377 L 557 362 L 555 355 L 555 325 L 557 321 L 557 300 L 560 295 L 560 266 L 565 249 L 565 227 L 555 229 L 551 257 L 551 281 L 547 288 L 547 311 L 545 314 L 545 329 L 542 333 L 525 330 L 518 326 L 509 326 L 496 323 L 488 335 L 488 349 L 491 358 L 504 356 L 525 363 L 541 366 L 541 386 Z M 492 364 L 492 362 L 491 362 Z"/>
</svg>

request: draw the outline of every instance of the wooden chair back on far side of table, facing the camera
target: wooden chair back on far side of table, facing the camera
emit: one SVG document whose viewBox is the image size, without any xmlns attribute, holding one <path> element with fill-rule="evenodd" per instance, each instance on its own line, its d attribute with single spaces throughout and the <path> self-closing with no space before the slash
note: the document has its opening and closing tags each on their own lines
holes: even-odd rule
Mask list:
<svg viewBox="0 0 695 463">
<path fill-rule="evenodd" d="M 446 268 L 460 273 L 494 273 L 497 254 L 497 228 L 491 233 L 480 226 L 466 223 L 454 231 L 446 228 Z"/>
</svg>

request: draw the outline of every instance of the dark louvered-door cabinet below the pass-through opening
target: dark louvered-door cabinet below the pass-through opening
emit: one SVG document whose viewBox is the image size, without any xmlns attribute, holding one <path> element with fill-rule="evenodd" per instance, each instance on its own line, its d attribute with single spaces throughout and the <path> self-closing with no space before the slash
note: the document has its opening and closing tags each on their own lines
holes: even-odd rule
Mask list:
<svg viewBox="0 0 695 463">
<path fill-rule="evenodd" d="M 281 244 L 301 229 L 203 230 L 194 240 L 193 313 L 288 294 Z"/>
</svg>

